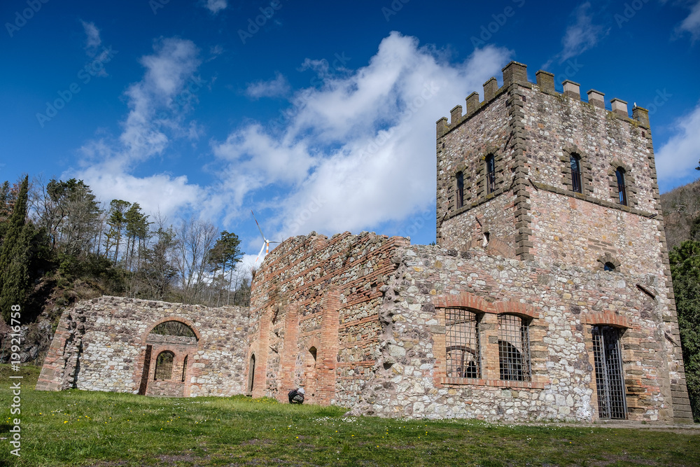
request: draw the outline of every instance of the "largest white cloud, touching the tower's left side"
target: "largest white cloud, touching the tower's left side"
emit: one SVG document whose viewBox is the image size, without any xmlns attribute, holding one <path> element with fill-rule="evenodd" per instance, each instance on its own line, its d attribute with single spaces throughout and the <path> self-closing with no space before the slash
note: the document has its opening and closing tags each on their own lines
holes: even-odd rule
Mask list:
<svg viewBox="0 0 700 467">
<path fill-rule="evenodd" d="M 276 239 L 358 231 L 427 207 L 435 120 L 480 90 L 509 55 L 488 47 L 449 64 L 417 39 L 391 33 L 366 67 L 298 90 L 277 125 L 253 123 L 213 143 L 228 212 L 252 197 L 274 213 L 266 234 Z"/>
</svg>

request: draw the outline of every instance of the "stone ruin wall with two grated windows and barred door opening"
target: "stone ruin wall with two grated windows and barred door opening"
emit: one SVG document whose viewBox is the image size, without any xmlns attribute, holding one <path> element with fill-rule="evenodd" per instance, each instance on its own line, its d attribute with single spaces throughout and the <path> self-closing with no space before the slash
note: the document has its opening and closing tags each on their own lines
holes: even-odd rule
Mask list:
<svg viewBox="0 0 700 467">
<path fill-rule="evenodd" d="M 591 328 L 625 326 L 622 358 L 629 419 L 673 421 L 669 300 L 637 287 L 652 276 L 549 267 L 439 246 L 409 246 L 384 286 L 386 323 L 374 379 L 358 414 L 500 421 L 597 419 Z M 482 314 L 482 379 L 447 378 L 444 307 Z M 532 381 L 499 380 L 497 314 L 530 316 Z"/>
</svg>

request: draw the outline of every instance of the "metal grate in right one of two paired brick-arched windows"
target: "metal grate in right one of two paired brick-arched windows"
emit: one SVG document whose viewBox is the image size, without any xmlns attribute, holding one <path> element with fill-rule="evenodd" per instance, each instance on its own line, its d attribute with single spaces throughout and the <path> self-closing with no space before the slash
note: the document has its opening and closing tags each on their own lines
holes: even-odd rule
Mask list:
<svg viewBox="0 0 700 467">
<path fill-rule="evenodd" d="M 498 358 L 500 379 L 532 379 L 528 324 L 520 316 L 498 315 Z"/>
</svg>

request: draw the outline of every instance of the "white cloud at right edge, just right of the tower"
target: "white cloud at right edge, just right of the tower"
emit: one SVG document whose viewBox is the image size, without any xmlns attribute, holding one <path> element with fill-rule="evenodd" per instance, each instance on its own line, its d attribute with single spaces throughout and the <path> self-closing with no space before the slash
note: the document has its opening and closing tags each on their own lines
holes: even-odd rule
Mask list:
<svg viewBox="0 0 700 467">
<path fill-rule="evenodd" d="M 700 160 L 700 103 L 674 126 L 678 132 L 656 153 L 657 176 L 668 182 L 696 176 L 694 168 Z"/>
</svg>

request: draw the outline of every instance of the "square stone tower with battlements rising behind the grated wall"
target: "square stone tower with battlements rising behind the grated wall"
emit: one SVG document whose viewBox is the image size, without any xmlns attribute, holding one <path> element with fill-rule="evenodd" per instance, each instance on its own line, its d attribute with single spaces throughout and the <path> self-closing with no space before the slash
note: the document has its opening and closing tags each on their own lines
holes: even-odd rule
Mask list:
<svg viewBox="0 0 700 467">
<path fill-rule="evenodd" d="M 483 102 L 472 92 L 465 115 L 437 120 L 437 244 L 636 284 L 654 311 L 638 310 L 648 328 L 622 330 L 624 364 L 654 335 L 642 347 L 667 365 L 673 418 L 691 419 L 648 112 L 630 118 L 620 99 L 606 110 L 602 92 L 585 102 L 578 83 L 560 93 L 553 74 L 535 76 L 510 62 Z"/>
</svg>

